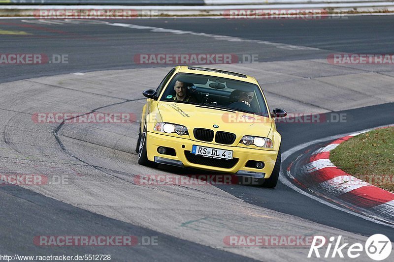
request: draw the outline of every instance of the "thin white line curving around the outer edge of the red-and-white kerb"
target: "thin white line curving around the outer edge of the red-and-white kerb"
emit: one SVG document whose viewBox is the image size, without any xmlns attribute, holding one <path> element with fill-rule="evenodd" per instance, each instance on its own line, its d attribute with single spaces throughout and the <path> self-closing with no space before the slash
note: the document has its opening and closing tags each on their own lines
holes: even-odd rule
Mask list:
<svg viewBox="0 0 394 262">
<path fill-rule="evenodd" d="M 382 125 L 382 126 L 379 126 L 379 127 L 385 127 L 385 126 L 393 126 L 393 125 Z M 377 128 L 379 128 L 379 127 L 377 127 Z M 374 129 L 374 128 L 365 129 L 365 130 L 362 130 L 362 131 L 360 131 L 360 132 L 367 132 L 367 131 L 372 130 L 372 129 Z M 350 133 L 350 134 L 353 134 L 353 133 Z M 291 148 L 291 149 L 285 151 L 285 152 L 282 154 L 282 163 L 283 163 L 290 155 L 294 154 L 295 152 L 297 152 L 297 151 L 299 151 L 299 150 L 302 150 L 303 148 L 305 148 L 305 147 L 307 147 L 307 146 L 311 146 L 311 145 L 314 145 L 314 144 L 317 144 L 317 143 L 320 143 L 320 142 L 326 142 L 326 141 L 329 141 L 329 140 L 335 140 L 335 139 L 338 139 L 338 138 L 341 138 L 341 137 L 345 137 L 345 136 L 348 136 L 348 135 L 349 135 L 349 134 L 341 134 L 341 135 L 336 135 L 336 136 L 330 136 L 330 137 L 326 137 L 326 138 L 314 140 L 314 141 L 311 141 L 311 142 L 307 142 L 307 143 L 304 143 L 304 144 L 295 146 L 295 147 L 293 147 L 293 148 Z M 345 208 L 343 208 L 343 207 L 337 206 L 337 205 L 335 205 L 335 204 L 331 204 L 331 203 L 329 203 L 328 201 L 325 201 L 325 200 L 323 200 L 323 199 L 320 199 L 320 198 L 318 198 L 318 197 L 316 197 L 316 196 L 314 196 L 314 195 L 308 194 L 307 192 L 303 191 L 302 189 L 300 189 L 300 188 L 296 187 L 294 184 L 292 184 L 292 183 L 289 181 L 289 179 L 287 179 L 287 177 L 284 175 L 282 169 L 280 170 L 279 181 L 281 181 L 284 185 L 290 187 L 291 189 L 295 190 L 296 192 L 300 193 L 301 195 L 304 195 L 304 196 L 306 196 L 306 197 L 308 197 L 308 198 L 311 198 L 311 199 L 313 199 L 313 200 L 316 200 L 317 202 L 319 202 L 319 203 L 321 203 L 321 204 L 325 204 L 325 205 L 327 205 L 327 206 L 329 206 L 329 207 L 335 208 L 335 209 L 337 209 L 337 210 L 343 211 L 343 212 L 348 213 L 348 214 L 351 214 L 351 215 L 355 215 L 355 216 L 357 216 L 357 217 L 360 217 L 360 218 L 362 218 L 362 219 L 365 219 L 365 220 L 367 220 L 367 221 L 370 221 L 370 222 L 373 222 L 373 223 L 376 223 L 376 224 L 380 224 L 380 225 L 384 225 L 384 226 L 388 226 L 388 227 L 394 228 L 394 225 L 386 224 L 386 223 L 384 223 L 384 222 L 382 222 L 382 221 L 377 220 L 377 219 L 379 219 L 378 217 L 371 218 L 371 217 L 368 217 L 368 216 L 365 216 L 365 215 L 362 215 L 362 214 L 359 214 L 359 213 L 350 211 L 350 210 L 345 209 Z M 391 203 L 391 204 L 392 204 L 392 203 Z M 382 208 L 385 208 L 385 207 L 386 207 L 386 206 L 382 206 Z"/>
</svg>

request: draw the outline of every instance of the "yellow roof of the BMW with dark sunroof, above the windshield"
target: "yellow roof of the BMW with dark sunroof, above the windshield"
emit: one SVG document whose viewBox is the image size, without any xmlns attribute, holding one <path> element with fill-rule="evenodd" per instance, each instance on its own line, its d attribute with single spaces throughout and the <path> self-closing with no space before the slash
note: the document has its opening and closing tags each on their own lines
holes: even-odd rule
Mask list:
<svg viewBox="0 0 394 262">
<path fill-rule="evenodd" d="M 229 78 L 229 79 L 257 84 L 257 81 L 254 77 L 240 73 L 215 69 L 215 68 L 178 65 L 175 67 L 175 69 L 177 73 L 191 73 L 191 74 L 199 74 L 199 75 L 216 76 L 216 77 Z"/>
</svg>

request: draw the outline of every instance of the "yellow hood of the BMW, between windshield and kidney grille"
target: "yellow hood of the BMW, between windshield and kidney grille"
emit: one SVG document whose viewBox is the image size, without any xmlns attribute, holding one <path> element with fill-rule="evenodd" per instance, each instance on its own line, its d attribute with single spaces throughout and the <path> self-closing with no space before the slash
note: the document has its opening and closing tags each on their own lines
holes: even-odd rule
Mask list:
<svg viewBox="0 0 394 262">
<path fill-rule="evenodd" d="M 234 133 L 237 138 L 245 135 L 267 137 L 272 127 L 271 119 L 264 116 L 202 105 L 159 102 L 158 109 L 164 122 L 184 125 L 189 132 L 199 127 Z M 219 127 L 214 128 L 213 125 Z"/>
</svg>

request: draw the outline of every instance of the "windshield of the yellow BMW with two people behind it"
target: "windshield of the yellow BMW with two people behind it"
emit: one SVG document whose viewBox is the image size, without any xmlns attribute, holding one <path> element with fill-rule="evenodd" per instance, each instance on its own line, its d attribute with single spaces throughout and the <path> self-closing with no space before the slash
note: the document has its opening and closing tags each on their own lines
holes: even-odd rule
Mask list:
<svg viewBox="0 0 394 262">
<path fill-rule="evenodd" d="M 165 88 L 160 101 L 267 115 L 264 98 L 257 85 L 215 76 L 178 73 Z"/>
</svg>

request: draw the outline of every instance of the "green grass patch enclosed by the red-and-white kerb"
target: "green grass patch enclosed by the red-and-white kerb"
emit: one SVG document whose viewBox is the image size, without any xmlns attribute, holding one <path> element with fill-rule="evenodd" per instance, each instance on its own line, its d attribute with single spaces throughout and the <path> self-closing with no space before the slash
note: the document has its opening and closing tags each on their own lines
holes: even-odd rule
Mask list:
<svg viewBox="0 0 394 262">
<path fill-rule="evenodd" d="M 330 152 L 346 173 L 394 192 L 394 127 L 360 134 Z"/>
</svg>

